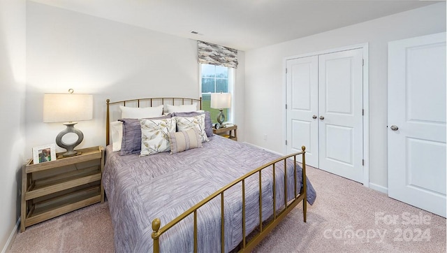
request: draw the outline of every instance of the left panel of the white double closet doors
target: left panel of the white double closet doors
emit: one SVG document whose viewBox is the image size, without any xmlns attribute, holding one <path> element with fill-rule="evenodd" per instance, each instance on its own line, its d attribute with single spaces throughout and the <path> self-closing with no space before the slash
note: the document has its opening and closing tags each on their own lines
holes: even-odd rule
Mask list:
<svg viewBox="0 0 447 253">
<path fill-rule="evenodd" d="M 291 59 L 286 65 L 287 151 L 300 152 L 305 145 L 306 164 L 318 168 L 318 56 Z"/>
</svg>

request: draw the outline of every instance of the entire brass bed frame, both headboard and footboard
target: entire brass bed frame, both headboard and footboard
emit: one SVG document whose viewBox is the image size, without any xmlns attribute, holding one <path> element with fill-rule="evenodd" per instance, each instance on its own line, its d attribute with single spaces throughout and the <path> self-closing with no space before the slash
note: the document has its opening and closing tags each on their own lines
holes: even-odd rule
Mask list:
<svg viewBox="0 0 447 253">
<path fill-rule="evenodd" d="M 198 102 L 199 104 L 199 108 L 202 108 L 202 99 L 189 99 L 189 98 L 149 98 L 149 99 L 131 99 L 131 100 L 126 100 L 126 101 L 118 101 L 118 102 L 112 102 L 110 103 L 110 100 L 107 99 L 107 117 L 106 117 L 106 145 L 109 145 L 110 141 L 109 141 L 109 134 L 110 134 L 110 105 L 117 105 L 117 104 L 121 104 L 123 106 L 126 106 L 126 103 L 136 103 L 137 106 L 135 107 L 140 107 L 140 102 L 141 101 L 146 101 L 148 102 L 149 106 L 152 106 L 152 104 L 154 103 L 154 101 L 156 101 L 157 103 L 164 104 L 165 101 L 175 105 L 180 104 L 180 105 L 184 105 L 185 101 L 189 102 L 187 104 L 193 104 L 194 102 Z M 254 169 L 253 171 L 243 175 L 240 178 L 237 178 L 236 180 L 234 180 L 233 182 L 230 182 L 228 185 L 226 185 L 225 187 L 222 187 L 221 189 L 219 189 L 218 191 L 215 191 L 213 194 L 211 194 L 210 196 L 208 196 L 207 198 L 203 199 L 203 201 L 200 201 L 199 203 L 197 203 L 196 205 L 194 205 L 193 207 L 189 208 L 189 210 L 186 210 L 184 213 L 182 213 L 182 215 L 179 215 L 177 218 L 173 219 L 171 222 L 169 222 L 168 224 L 161 226 L 161 222 L 159 218 L 155 218 L 152 221 L 152 239 L 154 240 L 154 253 L 159 253 L 160 252 L 160 244 L 159 244 L 159 238 L 160 236 L 165 233 L 166 231 L 168 231 L 168 229 L 172 228 L 173 226 L 175 226 L 175 224 L 181 222 L 183 219 L 185 219 L 186 217 L 188 217 L 189 215 L 193 215 L 193 250 L 194 252 L 198 252 L 197 249 L 197 245 L 198 245 L 198 240 L 197 240 L 197 210 L 205 205 L 206 203 L 208 203 L 209 201 L 211 201 L 212 199 L 216 198 L 217 196 L 221 196 L 221 252 L 225 252 L 225 233 L 224 233 L 224 211 L 223 211 L 223 200 L 224 200 L 224 193 L 226 190 L 230 189 L 231 187 L 233 187 L 234 185 L 237 185 L 239 183 L 242 184 L 242 243 L 240 243 L 240 248 L 238 249 L 240 252 L 249 252 L 251 250 L 253 250 L 253 248 L 261 242 L 261 240 L 263 240 L 263 238 L 265 238 L 265 236 L 268 235 L 268 233 L 270 233 L 270 231 L 272 231 L 272 229 L 274 229 L 275 226 L 277 226 L 277 224 L 279 224 L 279 222 L 281 222 L 282 219 L 284 219 L 284 217 L 286 217 L 286 215 L 291 212 L 291 210 L 293 208 L 295 208 L 296 205 L 298 205 L 298 203 L 300 203 L 300 201 L 302 201 L 302 208 L 303 208 L 303 220 L 304 222 L 306 222 L 306 212 L 307 212 L 307 182 L 306 182 L 306 161 L 305 161 L 305 146 L 302 146 L 302 151 L 301 152 L 297 152 L 294 154 L 288 154 L 284 157 L 281 157 L 279 159 L 276 159 L 274 161 L 271 161 L 268 164 L 265 164 L 261 167 L 258 167 L 256 169 Z M 296 161 L 296 157 L 298 155 L 302 155 L 302 187 L 301 189 L 298 191 L 296 184 L 297 184 L 297 179 L 298 179 L 298 173 L 297 173 L 297 161 Z M 294 192 L 294 198 L 291 201 L 287 201 L 287 174 L 286 174 L 286 160 L 287 159 L 292 159 L 293 157 L 293 163 L 294 163 L 294 168 L 293 168 L 293 176 L 294 176 L 294 182 L 295 182 L 295 192 Z M 282 162 L 284 164 L 284 208 L 281 210 L 277 210 L 276 207 L 276 194 L 273 194 L 273 216 L 271 217 L 269 222 L 264 222 L 262 219 L 262 190 L 261 190 L 261 173 L 265 168 L 269 168 L 270 166 L 272 166 L 272 170 L 273 170 L 273 192 L 276 192 L 276 180 L 275 180 L 275 171 L 277 169 L 277 164 L 279 162 Z M 255 235 L 251 235 L 250 239 L 247 239 L 247 231 L 245 229 L 245 180 L 247 178 L 249 178 L 251 175 L 254 174 L 258 174 L 259 177 L 259 225 L 258 225 L 258 233 L 256 233 Z M 230 249 L 232 250 L 232 249 Z"/>
</svg>

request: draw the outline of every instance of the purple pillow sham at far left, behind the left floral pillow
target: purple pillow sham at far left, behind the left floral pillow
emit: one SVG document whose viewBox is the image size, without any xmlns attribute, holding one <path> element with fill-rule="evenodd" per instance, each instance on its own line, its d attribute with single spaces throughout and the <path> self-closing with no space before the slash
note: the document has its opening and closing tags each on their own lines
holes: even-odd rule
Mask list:
<svg viewBox="0 0 447 253">
<path fill-rule="evenodd" d="M 152 120 L 168 119 L 171 115 L 152 117 Z M 141 125 L 138 119 L 119 119 L 123 122 L 123 138 L 120 155 L 137 154 L 141 152 Z"/>
</svg>

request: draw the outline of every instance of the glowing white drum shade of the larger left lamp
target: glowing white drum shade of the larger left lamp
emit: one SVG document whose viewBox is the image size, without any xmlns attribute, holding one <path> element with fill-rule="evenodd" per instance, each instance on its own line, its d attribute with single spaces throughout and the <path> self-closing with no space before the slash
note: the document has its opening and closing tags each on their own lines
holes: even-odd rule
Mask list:
<svg viewBox="0 0 447 253">
<path fill-rule="evenodd" d="M 43 122 L 73 122 L 93 119 L 93 96 L 89 94 L 44 94 Z"/>
</svg>

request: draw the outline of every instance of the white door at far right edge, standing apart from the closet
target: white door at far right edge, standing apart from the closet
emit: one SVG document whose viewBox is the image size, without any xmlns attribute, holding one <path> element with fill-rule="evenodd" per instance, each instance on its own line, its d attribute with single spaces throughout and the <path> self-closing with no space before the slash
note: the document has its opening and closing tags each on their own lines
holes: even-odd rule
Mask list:
<svg viewBox="0 0 447 253">
<path fill-rule="evenodd" d="M 446 33 L 388 43 L 388 196 L 446 217 Z"/>
</svg>

